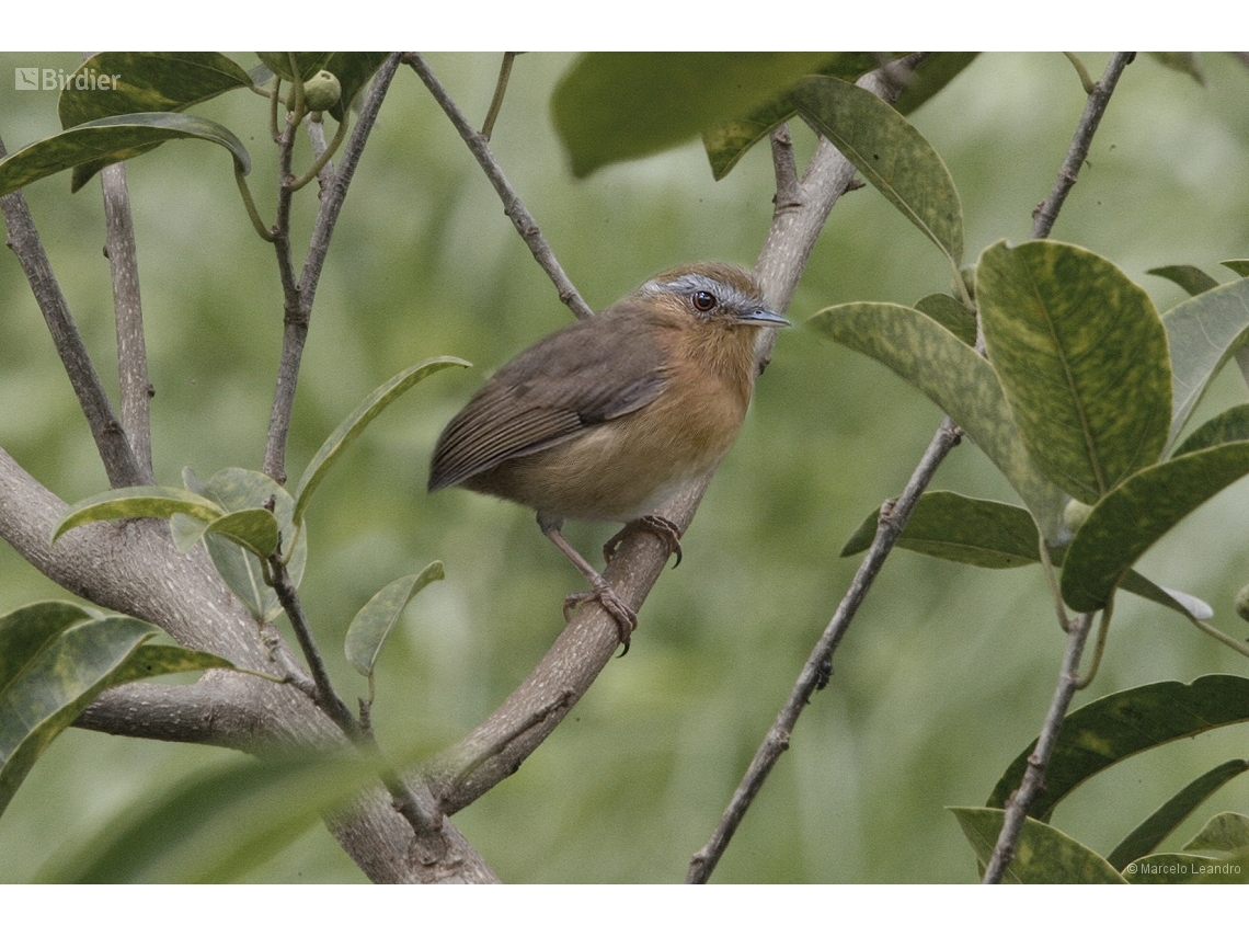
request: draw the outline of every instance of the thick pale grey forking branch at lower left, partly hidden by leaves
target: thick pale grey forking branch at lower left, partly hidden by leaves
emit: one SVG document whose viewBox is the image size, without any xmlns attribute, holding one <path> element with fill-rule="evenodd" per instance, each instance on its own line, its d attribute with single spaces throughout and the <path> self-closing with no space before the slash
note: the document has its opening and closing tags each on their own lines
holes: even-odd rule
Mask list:
<svg viewBox="0 0 1249 937">
<path fill-rule="evenodd" d="M 92 523 L 54 545 L 51 532 L 65 507 L 0 449 L 0 538 L 31 566 L 81 598 L 157 625 L 185 647 L 282 676 L 259 640 L 256 622 L 204 550 L 179 552 L 169 525 L 155 520 Z M 146 712 L 136 710 L 149 705 Z M 131 685 L 109 691 L 80 718 L 100 731 L 249 752 L 275 746 L 333 750 L 348 743 L 295 687 L 220 671 L 194 686 Z M 411 826 L 380 785 L 326 823 L 375 882 L 497 881 L 448 821 L 441 828 L 448 843 L 445 855 L 423 862 L 412 851 Z"/>
</svg>

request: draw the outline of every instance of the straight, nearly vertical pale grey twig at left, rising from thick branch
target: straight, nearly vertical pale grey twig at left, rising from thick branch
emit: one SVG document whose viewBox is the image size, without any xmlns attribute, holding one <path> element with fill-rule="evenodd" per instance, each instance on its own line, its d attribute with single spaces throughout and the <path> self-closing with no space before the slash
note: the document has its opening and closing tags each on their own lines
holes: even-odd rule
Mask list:
<svg viewBox="0 0 1249 937">
<path fill-rule="evenodd" d="M 147 377 L 144 341 L 144 307 L 139 295 L 139 254 L 135 222 L 126 190 L 126 164 L 114 162 L 100 171 L 106 225 L 105 254 L 112 275 L 112 306 L 117 322 L 117 379 L 121 390 L 121 427 L 130 440 L 144 485 L 155 485 L 152 473 L 151 399 L 156 392 Z"/>
</svg>

